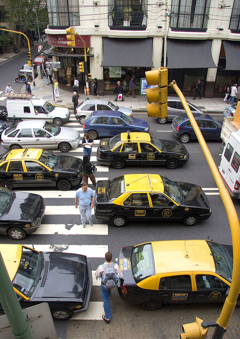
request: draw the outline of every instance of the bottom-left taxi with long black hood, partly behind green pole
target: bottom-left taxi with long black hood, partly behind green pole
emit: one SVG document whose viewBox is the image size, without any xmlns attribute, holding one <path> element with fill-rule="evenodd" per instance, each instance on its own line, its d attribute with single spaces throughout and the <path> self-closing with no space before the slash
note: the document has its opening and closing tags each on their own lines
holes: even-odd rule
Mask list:
<svg viewBox="0 0 240 339">
<path fill-rule="evenodd" d="M 47 302 L 56 320 L 87 310 L 93 283 L 85 255 L 41 252 L 24 245 L 0 245 L 0 252 L 22 308 Z"/>
</svg>

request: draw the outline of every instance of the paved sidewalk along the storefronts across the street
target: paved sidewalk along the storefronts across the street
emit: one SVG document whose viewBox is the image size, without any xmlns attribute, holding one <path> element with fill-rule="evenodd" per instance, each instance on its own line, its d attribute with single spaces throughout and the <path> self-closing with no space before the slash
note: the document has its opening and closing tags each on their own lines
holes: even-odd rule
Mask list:
<svg viewBox="0 0 240 339">
<path fill-rule="evenodd" d="M 69 91 L 64 91 L 59 88 L 59 96 L 60 98 L 55 98 L 53 100 L 53 87 L 51 84 L 46 85 L 45 77 L 42 79 L 35 79 L 36 86 L 31 84 L 32 94 L 34 94 L 38 99 L 44 99 L 52 104 L 59 106 L 66 106 L 69 109 L 73 109 L 72 96 L 73 93 Z M 25 84 L 21 88 L 21 93 L 25 92 Z M 100 96 L 99 99 L 96 100 L 108 100 L 114 103 L 115 95 L 104 95 Z M 94 95 L 90 95 L 89 99 L 93 99 Z M 224 95 L 223 95 L 224 98 Z M 186 100 L 190 103 L 201 108 L 205 113 L 223 113 L 227 103 L 223 102 L 223 98 L 202 98 L 193 100 L 193 97 L 186 97 Z M 79 103 L 86 99 L 84 94 L 79 94 L 78 101 Z M 146 96 L 139 95 L 137 98 L 133 98 L 131 96 L 126 97 L 124 95 L 124 101 L 117 101 L 119 106 L 129 107 L 133 110 L 133 112 L 146 112 L 146 104 L 147 104 Z"/>
</svg>

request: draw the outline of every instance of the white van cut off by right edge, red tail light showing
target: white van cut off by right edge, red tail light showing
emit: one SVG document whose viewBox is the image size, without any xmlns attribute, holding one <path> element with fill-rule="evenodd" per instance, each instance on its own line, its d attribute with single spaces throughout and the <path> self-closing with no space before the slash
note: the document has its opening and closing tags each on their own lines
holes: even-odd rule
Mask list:
<svg viewBox="0 0 240 339">
<path fill-rule="evenodd" d="M 240 199 L 240 130 L 233 132 L 223 149 L 219 173 L 231 198 Z"/>
</svg>

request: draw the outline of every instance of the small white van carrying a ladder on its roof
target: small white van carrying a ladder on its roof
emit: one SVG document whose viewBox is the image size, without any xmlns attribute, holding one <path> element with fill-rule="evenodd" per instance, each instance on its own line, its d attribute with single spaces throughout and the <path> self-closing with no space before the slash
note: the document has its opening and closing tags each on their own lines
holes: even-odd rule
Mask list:
<svg viewBox="0 0 240 339">
<path fill-rule="evenodd" d="M 7 99 L 7 119 L 15 124 L 23 120 L 39 119 L 61 126 L 69 118 L 67 107 L 55 107 L 43 99 Z"/>
</svg>

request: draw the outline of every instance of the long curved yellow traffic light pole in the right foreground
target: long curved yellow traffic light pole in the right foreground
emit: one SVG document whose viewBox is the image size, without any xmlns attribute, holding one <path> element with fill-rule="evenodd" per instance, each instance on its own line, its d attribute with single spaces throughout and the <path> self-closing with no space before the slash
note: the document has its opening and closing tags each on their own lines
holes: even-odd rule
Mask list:
<svg viewBox="0 0 240 339">
<path fill-rule="evenodd" d="M 190 111 L 190 108 L 178 88 L 176 81 L 172 81 L 169 86 L 175 90 L 177 95 L 179 96 L 183 107 L 187 113 L 187 116 L 193 126 L 194 132 L 198 138 L 198 141 L 200 143 L 200 146 L 202 148 L 202 151 L 205 155 L 205 158 L 207 160 L 207 163 L 211 169 L 211 172 L 213 174 L 214 180 L 217 184 L 217 187 L 219 189 L 219 194 L 221 196 L 221 199 L 223 201 L 223 204 L 225 206 L 227 217 L 229 220 L 229 225 L 231 228 L 232 233 L 232 241 L 233 241 L 233 275 L 232 275 L 232 283 L 231 287 L 228 293 L 228 296 L 224 302 L 221 314 L 217 320 L 217 327 L 215 328 L 214 334 L 212 339 L 221 339 L 223 338 L 224 333 L 226 332 L 226 329 L 228 327 L 229 320 L 231 319 L 231 316 L 233 314 L 237 298 L 240 291 L 240 247 L 239 247 L 239 240 L 240 240 L 240 225 L 239 220 L 237 216 L 237 212 L 235 210 L 233 201 L 231 197 L 229 196 L 223 181 L 220 177 L 220 174 L 218 172 L 218 169 L 215 165 L 215 162 L 213 160 L 213 157 L 206 145 L 206 142 L 202 136 L 202 133 L 196 123 L 196 120 L 194 119 L 194 116 L 192 112 Z"/>
</svg>

